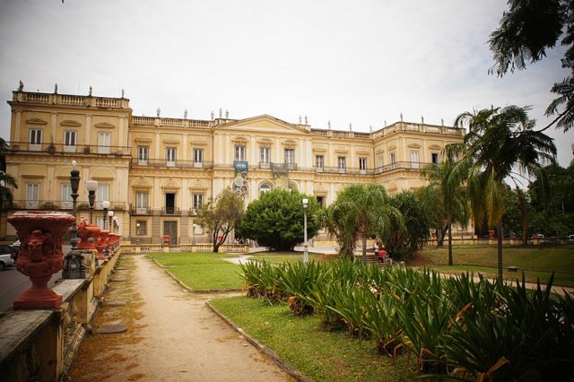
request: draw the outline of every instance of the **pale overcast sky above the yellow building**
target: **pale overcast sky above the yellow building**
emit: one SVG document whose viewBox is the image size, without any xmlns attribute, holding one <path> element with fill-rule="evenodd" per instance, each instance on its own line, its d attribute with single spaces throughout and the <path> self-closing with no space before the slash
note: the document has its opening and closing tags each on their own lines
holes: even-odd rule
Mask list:
<svg viewBox="0 0 574 382">
<path fill-rule="evenodd" d="M 563 48 L 502 78 L 487 40 L 506 0 L 0 0 L 0 100 L 24 91 L 120 97 L 135 116 L 269 114 L 368 132 L 452 125 L 473 109 L 531 105 L 537 126 Z M 558 160 L 574 131 L 547 130 Z M 0 136 L 10 107 L 0 103 Z"/>
</svg>

